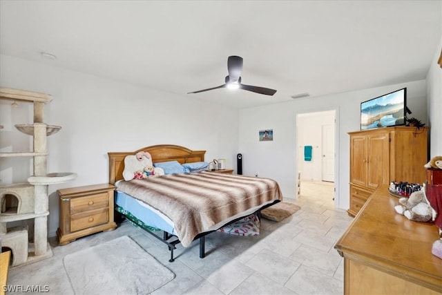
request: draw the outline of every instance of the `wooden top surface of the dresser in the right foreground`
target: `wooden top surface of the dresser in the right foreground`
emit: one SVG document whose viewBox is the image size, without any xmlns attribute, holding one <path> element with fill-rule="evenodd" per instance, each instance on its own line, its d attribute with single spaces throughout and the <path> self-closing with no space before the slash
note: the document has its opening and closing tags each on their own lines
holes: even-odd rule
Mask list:
<svg viewBox="0 0 442 295">
<path fill-rule="evenodd" d="M 439 229 L 394 210 L 398 198 L 380 185 L 335 248 L 345 258 L 442 292 L 442 259 L 432 254 Z"/>
</svg>

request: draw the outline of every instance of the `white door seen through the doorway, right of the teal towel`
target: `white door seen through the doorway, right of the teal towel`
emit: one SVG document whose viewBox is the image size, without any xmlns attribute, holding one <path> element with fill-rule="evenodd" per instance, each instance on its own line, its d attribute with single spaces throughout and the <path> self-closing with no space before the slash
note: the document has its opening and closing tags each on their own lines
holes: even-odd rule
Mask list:
<svg viewBox="0 0 442 295">
<path fill-rule="evenodd" d="M 334 182 L 334 125 L 323 125 L 323 181 Z"/>
</svg>

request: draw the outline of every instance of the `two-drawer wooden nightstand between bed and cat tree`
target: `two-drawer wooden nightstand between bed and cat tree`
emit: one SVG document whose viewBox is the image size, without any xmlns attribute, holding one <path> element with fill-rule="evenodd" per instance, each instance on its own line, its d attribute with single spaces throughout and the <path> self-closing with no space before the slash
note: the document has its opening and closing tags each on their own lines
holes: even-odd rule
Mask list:
<svg viewBox="0 0 442 295">
<path fill-rule="evenodd" d="M 82 236 L 115 229 L 114 191 L 112 184 L 59 189 L 59 244 L 66 245 Z"/>
</svg>

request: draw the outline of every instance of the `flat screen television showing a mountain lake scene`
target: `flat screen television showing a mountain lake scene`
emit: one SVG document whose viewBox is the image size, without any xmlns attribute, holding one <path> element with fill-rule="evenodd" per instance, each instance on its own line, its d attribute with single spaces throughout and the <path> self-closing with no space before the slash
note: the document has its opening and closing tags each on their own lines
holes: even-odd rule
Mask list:
<svg viewBox="0 0 442 295">
<path fill-rule="evenodd" d="M 407 88 L 361 102 L 361 130 L 405 125 Z"/>
</svg>

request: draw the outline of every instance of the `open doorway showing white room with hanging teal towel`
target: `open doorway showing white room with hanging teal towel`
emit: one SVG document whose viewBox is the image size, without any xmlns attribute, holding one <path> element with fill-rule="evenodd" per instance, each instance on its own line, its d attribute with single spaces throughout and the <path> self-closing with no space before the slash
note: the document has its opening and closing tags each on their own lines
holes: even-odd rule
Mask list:
<svg viewBox="0 0 442 295">
<path fill-rule="evenodd" d="M 336 110 L 296 115 L 296 175 L 302 182 L 334 186 Z M 299 185 L 299 184 L 298 184 Z"/>
</svg>

